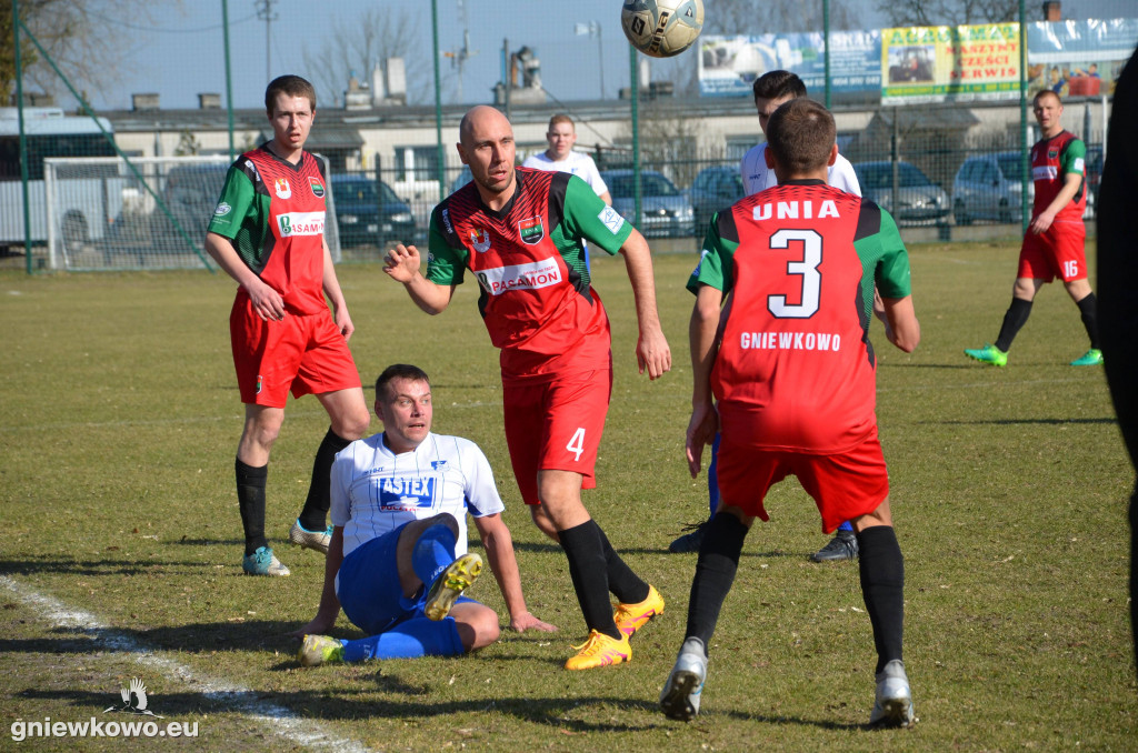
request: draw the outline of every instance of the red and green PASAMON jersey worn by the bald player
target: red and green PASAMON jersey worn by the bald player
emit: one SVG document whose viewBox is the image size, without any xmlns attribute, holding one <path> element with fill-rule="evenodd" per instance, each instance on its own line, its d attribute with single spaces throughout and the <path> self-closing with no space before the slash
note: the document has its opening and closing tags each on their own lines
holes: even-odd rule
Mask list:
<svg viewBox="0 0 1138 753">
<path fill-rule="evenodd" d="M 576 175 L 514 174 L 517 190 L 498 212 L 475 183 L 435 207 L 427 279 L 452 286 L 475 273 L 505 380 L 608 369 L 609 318 L 589 287 L 582 241 L 616 254 L 632 225 Z"/>
</svg>

